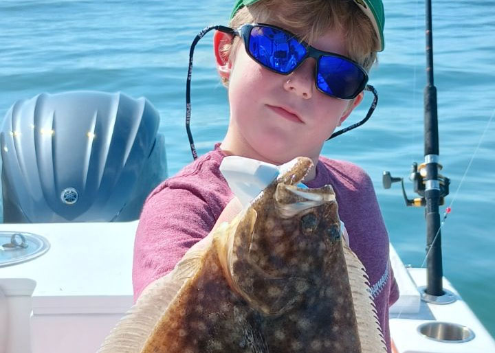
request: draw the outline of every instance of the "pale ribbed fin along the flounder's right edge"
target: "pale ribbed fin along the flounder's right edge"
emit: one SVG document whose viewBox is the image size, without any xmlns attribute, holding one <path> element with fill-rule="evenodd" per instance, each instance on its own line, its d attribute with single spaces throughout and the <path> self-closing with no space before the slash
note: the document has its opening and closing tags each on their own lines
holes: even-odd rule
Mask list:
<svg viewBox="0 0 495 353">
<path fill-rule="evenodd" d="M 342 247 L 349 273 L 354 312 L 356 321 L 358 321 L 361 353 L 386 352 L 380 320 L 377 317 L 373 298 L 369 293 L 368 275 L 364 270 L 364 265 L 345 242 L 342 242 Z"/>
</svg>

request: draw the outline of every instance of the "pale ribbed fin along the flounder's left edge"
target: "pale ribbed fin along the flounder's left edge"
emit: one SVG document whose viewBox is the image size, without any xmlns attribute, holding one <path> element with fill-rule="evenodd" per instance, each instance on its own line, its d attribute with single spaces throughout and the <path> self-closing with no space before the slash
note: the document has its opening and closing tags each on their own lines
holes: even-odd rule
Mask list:
<svg viewBox="0 0 495 353">
<path fill-rule="evenodd" d="M 141 352 L 153 328 L 188 278 L 197 271 L 209 243 L 192 247 L 173 271 L 149 284 L 104 340 L 98 353 Z"/>
</svg>

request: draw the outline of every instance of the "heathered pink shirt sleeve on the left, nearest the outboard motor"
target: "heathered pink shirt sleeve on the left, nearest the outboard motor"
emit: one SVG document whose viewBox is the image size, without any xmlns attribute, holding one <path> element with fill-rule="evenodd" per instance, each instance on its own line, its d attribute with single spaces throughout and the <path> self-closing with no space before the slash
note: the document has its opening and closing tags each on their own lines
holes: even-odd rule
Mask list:
<svg viewBox="0 0 495 353">
<path fill-rule="evenodd" d="M 137 226 L 133 257 L 134 301 L 170 272 L 193 244 L 208 235 L 216 217 L 194 190 L 166 182 L 151 194 Z"/>
</svg>

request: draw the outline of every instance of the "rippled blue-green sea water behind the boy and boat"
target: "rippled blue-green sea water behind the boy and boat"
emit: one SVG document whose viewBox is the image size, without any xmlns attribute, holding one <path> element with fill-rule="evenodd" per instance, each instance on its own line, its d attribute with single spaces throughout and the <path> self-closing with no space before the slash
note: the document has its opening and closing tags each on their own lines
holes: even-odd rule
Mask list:
<svg viewBox="0 0 495 353">
<path fill-rule="evenodd" d="M 3 0 L 0 115 L 16 100 L 42 92 L 144 96 L 161 114 L 174 174 L 192 160 L 184 129 L 190 43 L 206 25 L 225 25 L 232 2 Z M 452 181 L 443 270 L 495 335 L 495 1 L 432 2 L 440 158 Z M 390 170 L 407 179 L 411 163 L 423 161 L 424 3 L 384 5 L 386 49 L 370 81 L 380 95 L 377 109 L 361 128 L 327 142 L 323 154 L 369 172 L 391 241 L 406 264 L 421 266 L 423 209 L 406 207 L 397 184 L 384 190 L 381 176 Z M 197 45 L 192 78 L 192 132 L 202 154 L 221 141 L 228 124 L 211 34 Z M 363 117 L 370 102 L 366 97 L 353 119 Z M 406 187 L 415 196 L 412 183 Z"/>
</svg>

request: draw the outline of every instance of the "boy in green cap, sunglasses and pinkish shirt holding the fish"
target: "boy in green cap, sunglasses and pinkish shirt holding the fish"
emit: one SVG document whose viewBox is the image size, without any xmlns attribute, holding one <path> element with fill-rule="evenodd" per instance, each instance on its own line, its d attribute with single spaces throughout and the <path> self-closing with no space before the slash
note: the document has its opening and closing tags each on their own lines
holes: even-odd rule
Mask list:
<svg viewBox="0 0 495 353">
<path fill-rule="evenodd" d="M 369 274 L 390 352 L 388 306 L 398 291 L 373 185 L 358 166 L 320 157 L 323 143 L 362 101 L 365 71 L 384 47 L 381 0 L 354 1 L 236 1 L 230 27 L 237 31 L 214 34 L 217 70 L 228 87 L 227 134 L 148 196 L 135 239 L 135 299 L 214 225 L 240 211 L 219 172 L 223 157 L 280 165 L 306 156 L 315 168 L 305 184 L 331 184 L 336 192 L 351 249 Z"/>
</svg>

